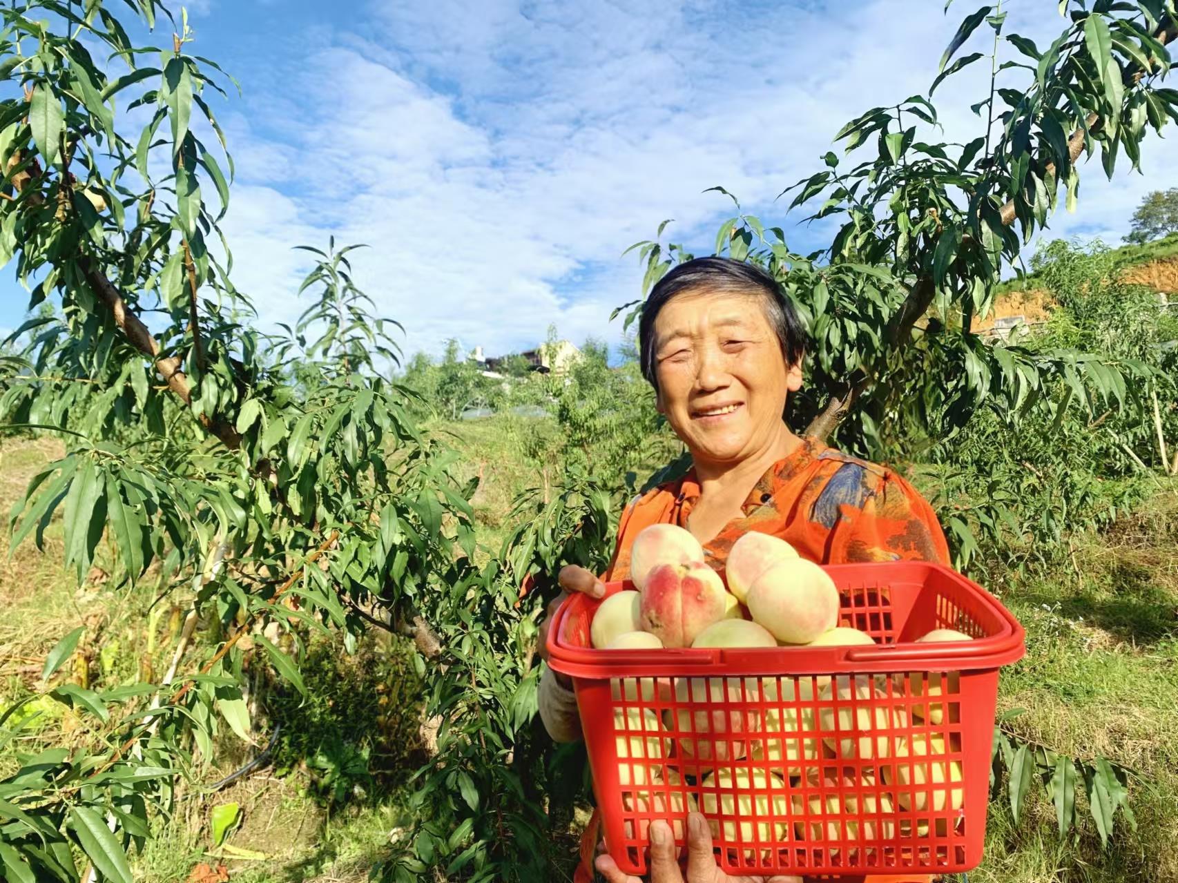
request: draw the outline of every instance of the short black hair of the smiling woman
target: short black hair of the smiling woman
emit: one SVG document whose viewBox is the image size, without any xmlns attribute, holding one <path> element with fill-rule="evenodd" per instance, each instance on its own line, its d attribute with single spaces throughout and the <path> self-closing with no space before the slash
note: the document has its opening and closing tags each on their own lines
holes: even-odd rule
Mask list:
<svg viewBox="0 0 1178 883">
<path fill-rule="evenodd" d="M 755 264 L 732 258 L 696 258 L 673 267 L 650 291 L 638 319 L 638 353 L 642 376 L 659 391 L 655 372 L 655 319 L 667 301 L 683 292 L 760 296 L 765 318 L 777 334 L 786 365 L 796 365 L 806 352 L 806 331 L 793 301 L 774 279 Z"/>
</svg>

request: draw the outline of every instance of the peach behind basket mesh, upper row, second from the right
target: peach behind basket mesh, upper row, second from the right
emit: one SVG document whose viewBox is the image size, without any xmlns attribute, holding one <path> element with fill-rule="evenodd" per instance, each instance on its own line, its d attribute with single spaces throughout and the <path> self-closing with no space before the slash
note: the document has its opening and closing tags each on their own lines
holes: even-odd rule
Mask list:
<svg viewBox="0 0 1178 883">
<path fill-rule="evenodd" d="M 840 757 L 853 759 L 878 759 L 892 756 L 895 730 L 908 726 L 908 715 L 899 705 L 887 704 L 887 691 L 881 676 L 840 675 L 819 693 L 820 701 L 829 703 L 836 696 L 838 708 L 819 711 L 819 724 L 823 730 L 823 743 L 838 751 Z M 829 735 L 838 730 L 838 736 Z"/>
</svg>

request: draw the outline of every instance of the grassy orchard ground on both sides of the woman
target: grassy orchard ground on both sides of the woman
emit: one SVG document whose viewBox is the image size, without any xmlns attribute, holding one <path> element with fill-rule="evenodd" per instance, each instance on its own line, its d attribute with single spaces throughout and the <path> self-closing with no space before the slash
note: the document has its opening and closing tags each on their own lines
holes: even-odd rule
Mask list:
<svg viewBox="0 0 1178 883">
<path fill-rule="evenodd" d="M 494 418 L 436 429 L 454 433 L 459 469 L 482 473 L 476 512 L 483 545 L 496 549 L 511 526 L 507 512 L 514 497 L 530 486 L 542 489 L 555 474 L 548 471 L 558 465 L 550 454 L 555 439 L 545 434 L 551 424 Z M 534 456 L 522 456 L 523 446 Z M 7 509 L 55 453 L 55 445 L 45 442 L 6 442 L 0 447 L 0 506 Z M 1026 710 L 1010 723 L 1025 738 L 1076 756 L 1101 755 L 1133 769 L 1139 776 L 1131 785 L 1138 830 L 1118 822 L 1112 843 L 1103 850 L 1081 801 L 1078 832 L 1060 838 L 1054 809 L 1037 789 L 1017 825 L 1004 803 L 991 806 L 986 858 L 969 876 L 974 883 L 1173 883 L 1178 489 L 1159 492 L 1105 536 L 1076 538 L 1073 547 L 1074 555 L 1057 571 L 1007 572 L 991 583 L 1027 630 L 1027 656 L 1004 670 L 999 704 Z M 91 643 L 82 648 L 95 680 L 127 679 L 141 664 L 145 596 L 153 593 L 110 589 L 100 566 L 79 589 L 58 560 L 60 527 L 52 525 L 45 555 L 26 545 L 0 569 L 0 606 L 6 612 L 0 619 L 0 708 L 35 688 L 44 655 L 78 624 L 88 626 Z M 167 619 L 161 617 L 155 630 L 150 662 L 157 671 L 171 648 Z M 185 785 L 171 818 L 155 821 L 155 836 L 135 856 L 137 881 L 183 883 L 199 863 L 216 865 L 220 858 L 210 842 L 209 816 L 223 803 L 238 803 L 243 810 L 230 845 L 256 854 L 223 856 L 232 878 L 243 883 L 360 883 L 390 842 L 403 836 L 410 824 L 405 779 L 421 762 L 415 684 L 405 657 L 396 643 L 366 644 L 357 658 L 330 642 L 315 652 L 315 664 L 306 670 L 306 702 L 278 685 L 259 688 L 265 713 L 271 722 L 280 721 L 287 733 L 273 763 L 221 791 L 205 794 L 199 784 Z M 41 737 L 70 741 L 75 735 L 61 718 L 47 722 Z M 346 765 L 349 752 L 365 746 L 371 776 L 344 776 L 342 798 L 333 799 L 338 782 L 332 764 Z M 256 750 L 229 737 L 198 781 L 220 778 Z"/>
</svg>

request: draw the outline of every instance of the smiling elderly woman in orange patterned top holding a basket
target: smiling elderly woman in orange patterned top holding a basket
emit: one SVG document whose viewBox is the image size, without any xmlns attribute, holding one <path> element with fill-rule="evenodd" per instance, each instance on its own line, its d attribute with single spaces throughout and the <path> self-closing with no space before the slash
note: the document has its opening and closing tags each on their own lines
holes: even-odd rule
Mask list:
<svg viewBox="0 0 1178 883">
<path fill-rule="evenodd" d="M 650 292 L 638 328 L 642 373 L 693 469 L 627 506 L 602 579 L 624 579 L 635 536 L 659 523 L 689 530 L 716 569 L 747 531 L 781 537 L 820 564 L 948 559 L 932 507 L 907 482 L 790 431 L 785 413 L 802 384 L 805 334 L 768 273 L 726 258 L 681 264 Z M 576 566 L 560 583 L 567 592 L 604 591 Z M 580 738 L 570 685 L 551 670 L 540 711 L 554 739 Z M 650 834 L 655 883 L 682 881 L 669 828 L 655 823 Z M 702 816 L 689 819 L 688 855 L 689 883 L 726 879 Z M 635 881 L 608 856 L 597 869 L 610 883 Z"/>
</svg>

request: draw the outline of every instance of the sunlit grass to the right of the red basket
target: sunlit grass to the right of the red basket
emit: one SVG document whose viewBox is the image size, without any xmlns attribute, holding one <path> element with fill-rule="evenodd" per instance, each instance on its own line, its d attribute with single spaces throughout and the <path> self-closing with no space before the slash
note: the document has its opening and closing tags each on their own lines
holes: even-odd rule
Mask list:
<svg viewBox="0 0 1178 883">
<path fill-rule="evenodd" d="M 1087 804 L 1079 836 L 1060 839 L 1039 790 L 1014 825 L 992 806 L 980 881 L 1178 881 L 1178 493 L 1150 500 L 1104 537 L 1084 536 L 1071 567 L 1018 576 L 999 591 L 1027 631 L 1026 658 L 1004 670 L 1000 709 L 1021 708 L 1019 735 L 1138 775 L 1138 830 L 1101 850 Z M 1123 823 L 1118 821 L 1118 825 Z"/>
</svg>

